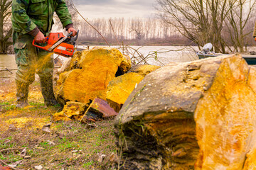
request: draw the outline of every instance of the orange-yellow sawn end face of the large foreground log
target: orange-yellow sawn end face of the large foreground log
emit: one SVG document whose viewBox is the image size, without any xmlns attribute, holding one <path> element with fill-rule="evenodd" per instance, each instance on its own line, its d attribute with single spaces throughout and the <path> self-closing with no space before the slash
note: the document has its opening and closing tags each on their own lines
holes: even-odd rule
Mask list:
<svg viewBox="0 0 256 170">
<path fill-rule="evenodd" d="M 194 118 L 200 152 L 196 169 L 242 169 L 256 140 L 256 98 L 245 60 L 225 60 L 198 101 Z M 255 86 L 255 85 L 253 85 Z"/>
</svg>

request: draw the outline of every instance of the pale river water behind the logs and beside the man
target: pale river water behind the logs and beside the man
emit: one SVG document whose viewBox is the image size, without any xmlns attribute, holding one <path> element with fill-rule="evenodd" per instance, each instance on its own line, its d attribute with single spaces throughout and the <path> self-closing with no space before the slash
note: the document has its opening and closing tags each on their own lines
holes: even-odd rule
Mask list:
<svg viewBox="0 0 256 170">
<path fill-rule="evenodd" d="M 90 47 L 91 48 L 91 47 Z M 132 50 L 134 49 L 134 50 Z M 148 56 L 147 62 L 148 64 L 154 64 L 154 65 L 165 65 L 169 62 L 188 62 L 191 60 L 197 60 L 198 57 L 196 56 L 195 52 L 191 47 L 177 47 L 177 46 L 132 46 L 129 48 L 130 53 L 137 55 L 137 52 L 139 54 L 144 55 L 146 57 Z M 120 49 L 122 51 L 122 49 Z M 55 55 L 57 57 L 57 55 Z M 65 57 L 61 57 L 63 60 L 66 60 Z M 157 60 L 156 60 L 157 59 Z M 15 55 L 0 55 L 0 70 L 3 69 L 16 69 L 16 63 L 15 63 Z M 7 79 L 14 77 L 15 70 L 11 71 L 13 74 L 11 74 L 8 71 L 1 71 L 0 72 L 0 81 L 1 79 Z"/>
</svg>

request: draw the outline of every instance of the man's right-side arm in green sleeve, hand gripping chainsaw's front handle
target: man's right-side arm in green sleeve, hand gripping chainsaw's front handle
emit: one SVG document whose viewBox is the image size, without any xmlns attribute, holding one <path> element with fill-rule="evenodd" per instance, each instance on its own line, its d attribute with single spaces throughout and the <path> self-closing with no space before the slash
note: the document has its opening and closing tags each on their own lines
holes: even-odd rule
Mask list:
<svg viewBox="0 0 256 170">
<path fill-rule="evenodd" d="M 71 15 L 68 11 L 68 6 L 67 4 L 65 4 L 64 0 L 57 0 L 57 8 L 55 12 L 57 13 L 58 18 L 60 18 L 63 28 L 66 28 L 66 30 L 68 30 L 68 33 L 72 31 L 73 36 L 75 36 L 76 30 L 73 28 Z"/>
</svg>

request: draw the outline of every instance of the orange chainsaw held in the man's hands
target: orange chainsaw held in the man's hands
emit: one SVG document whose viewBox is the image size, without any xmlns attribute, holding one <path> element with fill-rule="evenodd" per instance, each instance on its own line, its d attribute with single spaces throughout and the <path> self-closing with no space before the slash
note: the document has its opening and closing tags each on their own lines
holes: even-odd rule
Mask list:
<svg viewBox="0 0 256 170">
<path fill-rule="evenodd" d="M 50 33 L 48 37 L 46 37 L 45 46 L 36 45 L 35 40 L 33 40 L 33 45 L 63 57 L 72 57 L 75 52 L 75 41 L 78 39 L 78 33 L 74 38 L 70 37 L 73 32 L 68 33 L 68 35 L 65 36 L 63 33 Z"/>
</svg>

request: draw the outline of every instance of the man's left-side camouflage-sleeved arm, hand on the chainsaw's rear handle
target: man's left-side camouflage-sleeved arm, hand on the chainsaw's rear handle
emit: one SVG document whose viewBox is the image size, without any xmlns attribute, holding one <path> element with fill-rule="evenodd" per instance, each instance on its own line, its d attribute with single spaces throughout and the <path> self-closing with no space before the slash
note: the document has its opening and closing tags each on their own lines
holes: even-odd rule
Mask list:
<svg viewBox="0 0 256 170">
<path fill-rule="evenodd" d="M 13 22 L 21 28 L 21 33 L 32 35 L 35 37 L 36 42 L 44 42 L 45 38 L 43 33 L 38 29 L 35 23 L 26 13 L 29 0 L 13 0 L 12 1 L 12 19 Z M 15 27 L 13 25 L 13 27 Z M 15 28 L 14 28 L 15 30 Z"/>
</svg>

